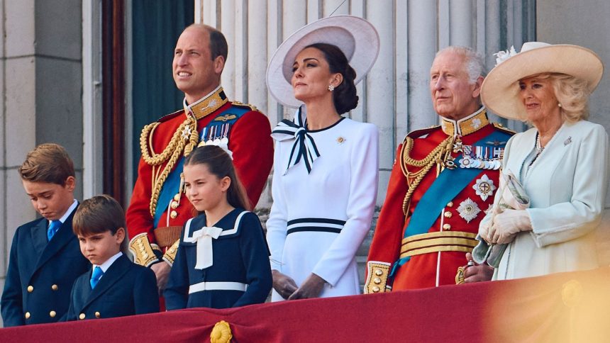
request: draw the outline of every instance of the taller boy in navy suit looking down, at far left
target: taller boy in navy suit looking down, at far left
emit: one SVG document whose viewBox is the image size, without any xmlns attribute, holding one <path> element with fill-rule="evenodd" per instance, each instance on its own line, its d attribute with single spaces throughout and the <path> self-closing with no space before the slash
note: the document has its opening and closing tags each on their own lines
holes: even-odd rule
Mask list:
<svg viewBox="0 0 610 343">
<path fill-rule="evenodd" d="M 5 327 L 57 322 L 70 304 L 70 289 L 90 269 L 72 232 L 74 164 L 60 145 L 30 151 L 19 168 L 23 188 L 43 216 L 17 228 L 0 301 Z"/>
</svg>

